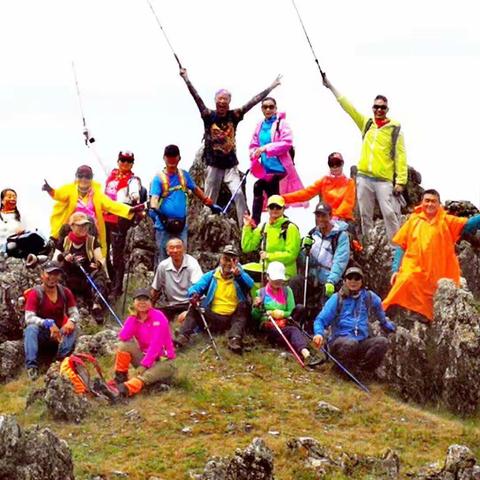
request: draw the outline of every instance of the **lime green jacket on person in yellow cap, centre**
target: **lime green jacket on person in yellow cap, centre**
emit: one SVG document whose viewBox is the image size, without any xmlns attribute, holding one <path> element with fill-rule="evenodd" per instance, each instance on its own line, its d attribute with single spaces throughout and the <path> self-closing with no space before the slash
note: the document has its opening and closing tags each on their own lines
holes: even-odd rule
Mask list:
<svg viewBox="0 0 480 480">
<path fill-rule="evenodd" d="M 263 225 L 259 225 L 255 230 L 250 225 L 245 225 L 242 229 L 242 250 L 244 253 L 265 250 L 265 269 L 270 262 L 281 262 L 285 265 L 287 277 L 291 278 L 297 274 L 301 238 L 294 223 L 290 223 L 286 231 L 282 231 L 282 224 L 287 221 L 287 217 L 280 217 L 273 224 L 265 224 L 265 246 L 262 242 Z"/>
</svg>

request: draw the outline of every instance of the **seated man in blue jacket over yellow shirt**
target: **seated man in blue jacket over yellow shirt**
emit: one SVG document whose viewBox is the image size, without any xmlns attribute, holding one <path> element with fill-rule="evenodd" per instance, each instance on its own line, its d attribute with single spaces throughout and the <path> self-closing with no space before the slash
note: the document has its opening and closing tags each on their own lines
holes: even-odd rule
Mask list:
<svg viewBox="0 0 480 480">
<path fill-rule="evenodd" d="M 228 330 L 228 348 L 242 353 L 242 337 L 250 314 L 247 298 L 252 286 L 253 279 L 238 263 L 237 250 L 227 245 L 222 251 L 220 265 L 188 289 L 192 308 L 180 328 L 176 344 L 185 346 L 197 327 L 204 328 L 203 315 L 212 332 Z M 204 314 L 198 305 L 203 295 Z"/>
</svg>

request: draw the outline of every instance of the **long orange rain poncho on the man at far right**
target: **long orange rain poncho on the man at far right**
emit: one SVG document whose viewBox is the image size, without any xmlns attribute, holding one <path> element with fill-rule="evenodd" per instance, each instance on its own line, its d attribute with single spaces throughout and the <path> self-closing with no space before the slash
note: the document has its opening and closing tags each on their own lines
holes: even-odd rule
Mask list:
<svg viewBox="0 0 480 480">
<path fill-rule="evenodd" d="M 432 219 L 427 218 L 421 206 L 415 209 L 393 237 L 393 243 L 405 253 L 395 283 L 383 301 L 385 309 L 400 305 L 433 320 L 438 280 L 460 281 L 455 243 L 467 220 L 447 214 L 442 207 Z"/>
</svg>

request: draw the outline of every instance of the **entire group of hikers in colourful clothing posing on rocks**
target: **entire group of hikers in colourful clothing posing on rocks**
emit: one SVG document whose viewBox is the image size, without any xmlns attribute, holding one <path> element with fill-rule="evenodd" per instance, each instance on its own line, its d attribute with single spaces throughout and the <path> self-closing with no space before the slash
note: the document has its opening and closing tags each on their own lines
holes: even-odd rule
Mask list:
<svg viewBox="0 0 480 480">
<path fill-rule="evenodd" d="M 377 319 L 387 335 L 394 332 L 395 324 L 386 316 L 394 305 L 414 312 L 419 321 L 432 322 L 437 282 L 440 278 L 459 282 L 455 243 L 464 232 L 480 227 L 480 216 L 466 219 L 446 213 L 439 193 L 430 189 L 402 225 L 407 183 L 404 138 L 400 124 L 388 117 L 383 95 L 374 98 L 373 114 L 363 115 L 323 75 L 324 86 L 359 128 L 362 149 L 355 179 L 344 174 L 342 154 L 333 152 L 327 174 L 304 187 L 294 164 L 292 131 L 270 96 L 280 77 L 240 108 L 231 109 L 231 93 L 220 89 L 210 109 L 185 68 L 180 68 L 180 75 L 203 120 L 204 190 L 179 168 L 176 145 L 165 147 L 165 167 L 150 182 L 149 192 L 132 171 L 134 154 L 120 151 L 117 168 L 104 187 L 93 180 L 88 165 L 78 167 L 74 181 L 66 185 L 55 188 L 44 182 L 42 189 L 55 203 L 50 239 L 40 246 L 39 235 L 22 223 L 16 192 L 12 188 L 1 192 L 4 254 L 48 255 L 41 264 L 41 284 L 25 292 L 29 378 L 38 377 L 40 351 L 53 348 L 76 391 L 85 391 L 75 373 L 75 362 L 85 358 L 72 355 L 79 335 L 76 299 L 84 299 L 100 325 L 107 310 L 114 313 L 109 302 L 126 287 L 127 234 L 137 221 L 147 221 L 147 214 L 156 242 L 153 282 L 150 289 L 133 294 L 132 313 L 118 334 L 114 378 L 97 386 L 99 391 L 115 400 L 137 394 L 145 385 L 170 382 L 175 350 L 187 348 L 204 331 L 218 357 L 214 334 L 226 332 L 228 348 L 241 354 L 249 332 L 290 350 L 302 366 L 314 368 L 325 354 L 335 359 L 341 373 L 371 376 L 387 352 L 388 338 L 373 335 L 370 323 Z M 264 118 L 248 146 L 248 172 L 256 178 L 250 213 L 238 169 L 236 129 L 259 103 Z M 226 208 L 217 204 L 222 183 L 235 204 L 241 251 L 224 245 L 218 266 L 203 272 L 187 253 L 189 193 L 212 214 L 222 214 Z M 316 196 L 314 225 L 302 239 L 285 212 L 289 206 L 306 207 Z M 353 251 L 362 248 L 372 231 L 376 202 L 393 258 L 391 289 L 383 302 L 367 289 L 366 272 L 352 261 Z M 242 253 L 251 252 L 257 252 L 258 261 L 241 265 Z M 35 258 L 30 255 L 27 261 Z M 122 324 L 116 314 L 115 318 Z M 130 366 L 136 368 L 134 373 Z"/>
</svg>

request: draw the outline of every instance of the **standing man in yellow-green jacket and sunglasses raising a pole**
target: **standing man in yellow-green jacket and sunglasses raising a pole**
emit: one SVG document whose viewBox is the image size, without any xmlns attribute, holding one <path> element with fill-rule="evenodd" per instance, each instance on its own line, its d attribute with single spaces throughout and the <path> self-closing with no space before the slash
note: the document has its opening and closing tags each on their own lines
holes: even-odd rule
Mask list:
<svg viewBox="0 0 480 480">
<path fill-rule="evenodd" d="M 362 115 L 341 95 L 326 76 L 323 84 L 352 117 L 363 138 L 358 162 L 357 201 L 362 234 L 373 228 L 375 199 L 378 201 L 389 240 L 400 227 L 401 194 L 408 179 L 407 157 L 400 124 L 387 117 L 388 100 L 377 95 L 373 101 L 373 118 Z"/>
</svg>

